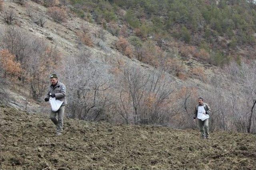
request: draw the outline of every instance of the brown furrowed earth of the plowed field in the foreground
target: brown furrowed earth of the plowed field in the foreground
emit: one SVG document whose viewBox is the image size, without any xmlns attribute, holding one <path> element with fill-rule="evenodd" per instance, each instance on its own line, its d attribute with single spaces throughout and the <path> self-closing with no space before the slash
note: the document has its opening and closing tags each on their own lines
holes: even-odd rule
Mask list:
<svg viewBox="0 0 256 170">
<path fill-rule="evenodd" d="M 0 169 L 256 169 L 256 135 L 64 119 L 0 107 Z"/>
</svg>

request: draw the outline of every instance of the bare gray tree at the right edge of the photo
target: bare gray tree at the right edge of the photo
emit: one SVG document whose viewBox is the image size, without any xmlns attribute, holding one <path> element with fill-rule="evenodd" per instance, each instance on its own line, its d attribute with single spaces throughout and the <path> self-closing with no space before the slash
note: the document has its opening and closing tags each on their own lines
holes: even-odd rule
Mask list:
<svg viewBox="0 0 256 170">
<path fill-rule="evenodd" d="M 228 68 L 232 83 L 236 83 L 230 91 L 232 92 L 232 112 L 236 119 L 236 125 L 240 131 L 252 133 L 256 131 L 255 105 L 256 105 L 256 63 L 242 62 L 230 64 Z"/>
</svg>

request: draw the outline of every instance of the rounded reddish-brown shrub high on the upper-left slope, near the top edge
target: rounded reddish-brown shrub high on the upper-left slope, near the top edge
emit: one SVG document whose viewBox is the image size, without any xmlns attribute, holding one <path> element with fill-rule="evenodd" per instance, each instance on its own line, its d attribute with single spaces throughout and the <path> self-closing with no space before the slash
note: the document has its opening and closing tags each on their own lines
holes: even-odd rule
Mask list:
<svg viewBox="0 0 256 170">
<path fill-rule="evenodd" d="M 54 6 L 48 9 L 48 16 L 50 16 L 55 22 L 62 23 L 66 20 L 67 13 L 64 9 Z"/>
</svg>

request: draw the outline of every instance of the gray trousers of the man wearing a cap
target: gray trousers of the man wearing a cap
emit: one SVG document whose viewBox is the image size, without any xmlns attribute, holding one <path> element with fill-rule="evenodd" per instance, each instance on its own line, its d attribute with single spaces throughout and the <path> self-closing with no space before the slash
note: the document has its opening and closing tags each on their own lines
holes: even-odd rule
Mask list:
<svg viewBox="0 0 256 170">
<path fill-rule="evenodd" d="M 58 109 L 58 111 L 56 111 L 56 112 L 51 111 L 51 113 L 50 113 L 50 119 L 57 126 L 58 133 L 62 132 L 64 110 L 65 110 L 65 106 L 60 106 L 60 109 Z M 58 119 L 56 118 L 56 114 L 58 114 Z"/>
</svg>

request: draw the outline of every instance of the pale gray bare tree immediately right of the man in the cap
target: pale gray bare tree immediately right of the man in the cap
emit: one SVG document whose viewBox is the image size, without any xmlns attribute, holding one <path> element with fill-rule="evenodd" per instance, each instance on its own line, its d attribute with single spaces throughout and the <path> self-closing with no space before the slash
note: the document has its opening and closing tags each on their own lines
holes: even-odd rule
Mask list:
<svg viewBox="0 0 256 170">
<path fill-rule="evenodd" d="M 83 51 L 70 58 L 66 67 L 66 84 L 70 104 L 70 117 L 98 120 L 104 117 L 112 77 L 108 64 L 92 59 L 90 51 Z"/>
</svg>

